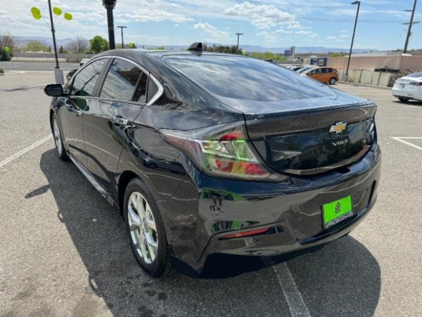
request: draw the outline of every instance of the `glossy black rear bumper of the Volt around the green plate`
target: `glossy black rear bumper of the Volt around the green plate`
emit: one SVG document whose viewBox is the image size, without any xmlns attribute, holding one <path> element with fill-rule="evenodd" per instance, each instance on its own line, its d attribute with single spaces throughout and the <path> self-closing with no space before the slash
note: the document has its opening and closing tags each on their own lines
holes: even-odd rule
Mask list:
<svg viewBox="0 0 422 317">
<path fill-rule="evenodd" d="M 173 222 L 168 232 L 173 256 L 179 264 L 201 273 L 211 254 L 275 256 L 340 238 L 374 205 L 380 165 L 377 147 L 349 166 L 348 172 L 292 177 L 281 183 L 217 180 L 193 170 L 167 202 L 176 214 L 182 209 L 186 213 L 176 216 L 181 222 Z M 349 195 L 353 216 L 324 230 L 322 204 Z M 221 239 L 264 227 L 271 227 L 264 235 Z"/>
</svg>

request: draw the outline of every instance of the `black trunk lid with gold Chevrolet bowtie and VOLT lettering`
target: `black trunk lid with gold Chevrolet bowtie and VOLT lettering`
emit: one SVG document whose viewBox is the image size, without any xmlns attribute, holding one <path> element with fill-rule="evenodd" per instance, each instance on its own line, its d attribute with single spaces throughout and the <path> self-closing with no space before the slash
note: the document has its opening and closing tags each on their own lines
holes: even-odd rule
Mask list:
<svg viewBox="0 0 422 317">
<path fill-rule="evenodd" d="M 295 175 L 327 172 L 360 160 L 374 142 L 376 105 L 356 99 L 349 104 L 301 100 L 300 107 L 290 101 L 284 111 L 245 114 L 246 130 L 273 169 Z"/>
</svg>

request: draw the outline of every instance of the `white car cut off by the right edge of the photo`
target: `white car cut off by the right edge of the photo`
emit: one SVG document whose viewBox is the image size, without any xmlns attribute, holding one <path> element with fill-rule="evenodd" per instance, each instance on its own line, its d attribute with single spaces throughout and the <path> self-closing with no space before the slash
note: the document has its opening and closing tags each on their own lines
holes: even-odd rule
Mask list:
<svg viewBox="0 0 422 317">
<path fill-rule="evenodd" d="M 397 79 L 391 91 L 400 101 L 422 101 L 422 71 Z"/>
</svg>

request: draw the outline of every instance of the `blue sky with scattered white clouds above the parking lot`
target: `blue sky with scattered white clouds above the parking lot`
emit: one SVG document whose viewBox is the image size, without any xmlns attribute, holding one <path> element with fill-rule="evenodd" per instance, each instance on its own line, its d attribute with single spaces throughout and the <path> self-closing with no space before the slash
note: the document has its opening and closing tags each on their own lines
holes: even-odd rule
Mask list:
<svg viewBox="0 0 422 317">
<path fill-rule="evenodd" d="M 45 1 L 7 1 L 0 7 L 0 32 L 16 36 L 51 36 L 46 22 L 30 14 L 38 6 L 48 19 Z M 107 38 L 101 0 L 53 0 L 73 20 L 60 21 L 57 38 L 101 35 Z M 195 41 L 266 47 L 350 45 L 357 5 L 345 0 L 117 0 L 115 25 L 125 25 L 125 42 L 185 45 Z M 362 0 L 355 48 L 402 48 L 413 0 Z M 415 21 L 422 20 L 422 1 Z M 116 29 L 116 42 L 120 42 Z M 413 26 L 409 48 L 422 48 L 422 23 Z"/>
</svg>

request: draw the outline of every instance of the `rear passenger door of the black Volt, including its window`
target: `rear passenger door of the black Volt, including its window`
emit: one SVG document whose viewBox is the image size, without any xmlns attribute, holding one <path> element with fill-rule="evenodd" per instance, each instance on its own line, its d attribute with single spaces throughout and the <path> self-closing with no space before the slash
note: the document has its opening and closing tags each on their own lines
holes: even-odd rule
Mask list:
<svg viewBox="0 0 422 317">
<path fill-rule="evenodd" d="M 84 140 L 89 172 L 116 197 L 114 187 L 127 128 L 146 102 L 148 73 L 134 62 L 114 58 L 99 85 L 99 98 L 84 112 Z"/>
</svg>

